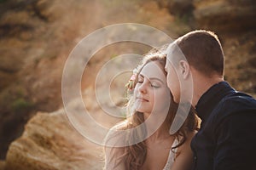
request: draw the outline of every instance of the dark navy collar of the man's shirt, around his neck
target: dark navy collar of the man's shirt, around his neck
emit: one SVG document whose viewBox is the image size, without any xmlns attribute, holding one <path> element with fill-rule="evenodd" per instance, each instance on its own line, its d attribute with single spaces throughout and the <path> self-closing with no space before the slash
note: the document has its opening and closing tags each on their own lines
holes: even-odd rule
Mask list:
<svg viewBox="0 0 256 170">
<path fill-rule="evenodd" d="M 234 91 L 235 90 L 230 87 L 228 82 L 218 82 L 214 84 L 201 96 L 197 105 L 195 105 L 197 115 L 202 121 L 206 121 L 213 108 L 218 105 L 218 102 L 223 99 L 224 96 Z"/>
</svg>

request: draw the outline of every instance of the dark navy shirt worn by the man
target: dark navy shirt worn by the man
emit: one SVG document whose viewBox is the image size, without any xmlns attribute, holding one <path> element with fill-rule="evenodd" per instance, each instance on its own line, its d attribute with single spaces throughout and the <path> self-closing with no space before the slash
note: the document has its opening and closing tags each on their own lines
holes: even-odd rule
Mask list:
<svg viewBox="0 0 256 170">
<path fill-rule="evenodd" d="M 191 141 L 193 170 L 256 169 L 256 100 L 219 82 L 195 107 L 201 128 Z"/>
</svg>

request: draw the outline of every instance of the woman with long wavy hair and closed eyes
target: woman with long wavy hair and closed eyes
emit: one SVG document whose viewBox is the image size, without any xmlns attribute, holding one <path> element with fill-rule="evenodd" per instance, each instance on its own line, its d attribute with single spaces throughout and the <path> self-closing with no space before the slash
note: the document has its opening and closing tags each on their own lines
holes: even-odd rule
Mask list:
<svg viewBox="0 0 256 170">
<path fill-rule="evenodd" d="M 192 163 L 190 140 L 197 128 L 194 111 L 190 109 L 177 133 L 169 133 L 177 103 L 166 84 L 165 51 L 166 47 L 146 54 L 135 78 L 128 84 L 133 91 L 128 102 L 129 117 L 108 134 L 107 170 L 185 170 Z M 119 130 L 123 132 L 118 133 Z"/>
</svg>

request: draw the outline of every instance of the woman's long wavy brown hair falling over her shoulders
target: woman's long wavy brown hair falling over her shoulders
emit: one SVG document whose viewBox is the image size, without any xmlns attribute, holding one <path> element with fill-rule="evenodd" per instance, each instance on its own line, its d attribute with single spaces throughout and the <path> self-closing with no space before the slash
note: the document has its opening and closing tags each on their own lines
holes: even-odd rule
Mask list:
<svg viewBox="0 0 256 170">
<path fill-rule="evenodd" d="M 145 54 L 143 58 L 143 63 L 142 65 L 139 66 L 136 79 L 132 84 L 133 87 L 130 87 L 130 88 L 134 88 L 136 86 L 137 78 L 138 78 L 138 75 L 140 74 L 140 71 L 142 71 L 145 65 L 147 65 L 149 62 L 152 62 L 152 61 L 158 61 L 160 65 L 162 65 L 162 69 L 164 71 L 164 67 L 166 65 L 166 46 L 159 49 L 154 48 L 151 51 L 149 51 L 148 54 Z M 166 74 L 166 71 L 164 71 L 164 73 Z M 143 113 L 139 111 L 135 111 L 132 108 L 133 101 L 134 101 L 133 95 L 131 95 L 131 98 L 127 103 L 127 108 L 128 108 L 127 115 L 131 115 L 131 116 L 128 117 L 125 120 L 125 122 L 119 123 L 119 126 L 118 126 L 119 130 L 138 127 L 145 121 Z M 170 123 L 170 127 L 172 125 L 172 121 L 174 117 L 176 116 L 177 107 L 178 107 L 178 104 L 174 102 L 171 94 L 169 111 L 166 116 L 166 122 Z M 188 133 L 195 131 L 197 127 L 198 127 L 198 121 L 197 121 L 197 117 L 195 116 L 195 110 L 191 107 L 189 111 L 189 116 L 186 118 L 185 122 L 183 122 L 183 126 L 180 127 L 180 129 L 176 133 L 172 134 L 173 136 L 177 137 L 177 139 L 179 140 L 179 143 L 176 146 L 174 146 L 172 149 L 182 145 L 186 141 Z M 131 141 L 130 142 L 131 145 L 125 146 L 124 148 L 125 153 L 121 157 L 117 158 L 117 159 L 125 159 L 126 170 L 137 170 L 143 167 L 143 163 L 147 156 L 147 146 L 145 144 L 145 141 L 142 141 L 137 144 L 133 144 L 132 142 L 137 140 L 138 138 L 143 139 L 143 137 L 145 137 L 146 135 L 147 135 L 147 132 L 145 128 L 141 126 L 141 128 L 137 128 L 136 131 L 131 131 L 131 134 L 127 136 L 127 138 L 129 138 L 128 140 Z"/>
</svg>

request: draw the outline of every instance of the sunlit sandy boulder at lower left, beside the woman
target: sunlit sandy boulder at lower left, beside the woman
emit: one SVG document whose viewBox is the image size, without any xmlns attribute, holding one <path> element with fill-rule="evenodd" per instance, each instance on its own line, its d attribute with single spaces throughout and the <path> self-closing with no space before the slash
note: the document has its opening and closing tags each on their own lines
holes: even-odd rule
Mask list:
<svg viewBox="0 0 256 170">
<path fill-rule="evenodd" d="M 39 112 L 9 146 L 5 169 L 102 169 L 102 157 L 102 147 L 76 132 L 63 111 Z"/>
</svg>

